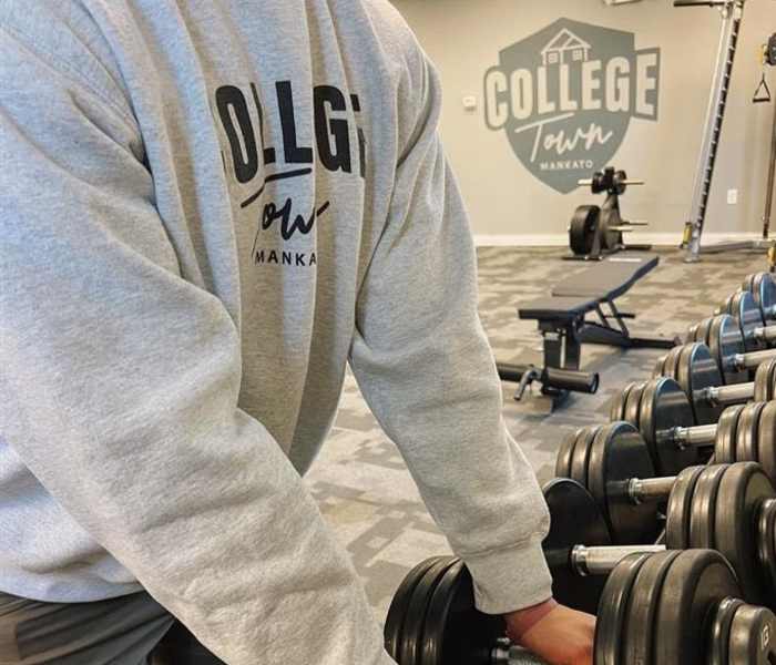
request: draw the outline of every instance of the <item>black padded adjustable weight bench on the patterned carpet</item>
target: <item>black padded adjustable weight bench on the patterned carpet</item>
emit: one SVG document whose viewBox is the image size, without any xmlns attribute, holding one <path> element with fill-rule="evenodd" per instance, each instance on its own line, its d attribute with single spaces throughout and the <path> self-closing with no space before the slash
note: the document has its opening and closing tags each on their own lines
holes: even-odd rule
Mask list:
<svg viewBox="0 0 776 665">
<path fill-rule="evenodd" d="M 520 383 L 515 400 L 522 398 L 525 388 L 533 381 L 541 381 L 542 393 L 552 398 L 553 407 L 560 406 L 569 392 L 595 392 L 599 387 L 598 374 L 580 370 L 582 344 L 626 349 L 670 349 L 680 344 L 678 338 L 631 335 L 625 319 L 634 319 L 635 315 L 620 311 L 614 304 L 636 282 L 654 270 L 658 262 L 654 254 L 623 253 L 610 256 L 557 284 L 550 296 L 521 306 L 518 316 L 539 324 L 544 367 L 498 364 L 501 380 Z"/>
</svg>

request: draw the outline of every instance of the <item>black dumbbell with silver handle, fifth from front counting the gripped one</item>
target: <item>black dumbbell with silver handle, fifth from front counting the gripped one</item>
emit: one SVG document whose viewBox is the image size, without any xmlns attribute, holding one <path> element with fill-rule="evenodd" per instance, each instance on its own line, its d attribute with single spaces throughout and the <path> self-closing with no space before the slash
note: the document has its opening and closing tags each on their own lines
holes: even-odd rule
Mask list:
<svg viewBox="0 0 776 665">
<path fill-rule="evenodd" d="M 654 376 L 670 377 L 682 386 L 690 397 L 696 424 L 716 422 L 725 407 L 776 398 L 776 359 L 760 362 L 754 381 L 725 386 L 711 349 L 700 342 L 671 349 L 658 361 Z"/>
</svg>

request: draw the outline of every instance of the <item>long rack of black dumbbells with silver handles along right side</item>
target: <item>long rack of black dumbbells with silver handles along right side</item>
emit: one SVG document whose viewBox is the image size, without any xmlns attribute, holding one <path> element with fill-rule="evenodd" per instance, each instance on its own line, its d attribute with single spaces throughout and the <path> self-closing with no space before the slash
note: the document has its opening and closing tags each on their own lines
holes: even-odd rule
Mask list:
<svg viewBox="0 0 776 665">
<path fill-rule="evenodd" d="M 711 346 L 662 359 L 661 374 L 675 366 L 677 380 L 626 387 L 611 422 L 581 428 L 558 451 L 542 550 L 555 598 L 596 614 L 598 664 L 776 663 L 776 357 L 744 352 L 754 325 L 776 320 L 776 282 L 766 279 L 747 277 L 726 314 L 693 327 Z M 693 362 L 701 348 L 707 357 Z M 754 383 L 733 372 L 727 385 L 728 366 L 757 367 Z M 700 374 L 741 402 L 715 423 L 696 423 L 700 381 L 678 382 Z M 543 665 L 506 627 L 478 612 L 464 562 L 435 556 L 394 595 L 386 651 L 401 665 Z"/>
</svg>

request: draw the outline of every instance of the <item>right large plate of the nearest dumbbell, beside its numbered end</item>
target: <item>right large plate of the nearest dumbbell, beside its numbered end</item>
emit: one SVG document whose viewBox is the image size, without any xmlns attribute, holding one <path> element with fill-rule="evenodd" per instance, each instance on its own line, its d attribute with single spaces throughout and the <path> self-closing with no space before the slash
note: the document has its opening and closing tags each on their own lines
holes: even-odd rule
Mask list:
<svg viewBox="0 0 776 665">
<path fill-rule="evenodd" d="M 714 610 L 741 587 L 729 563 L 712 550 L 686 550 L 665 576 L 655 622 L 660 665 L 706 665 Z"/>
</svg>

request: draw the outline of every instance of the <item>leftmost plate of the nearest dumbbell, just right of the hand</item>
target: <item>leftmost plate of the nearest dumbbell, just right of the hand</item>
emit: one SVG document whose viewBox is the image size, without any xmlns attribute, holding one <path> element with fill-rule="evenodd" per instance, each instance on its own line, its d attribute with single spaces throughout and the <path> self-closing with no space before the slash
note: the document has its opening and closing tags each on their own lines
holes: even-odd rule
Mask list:
<svg viewBox="0 0 776 665">
<path fill-rule="evenodd" d="M 621 648 L 633 584 L 649 554 L 625 556 L 610 573 L 595 623 L 595 665 L 623 665 Z"/>
</svg>

